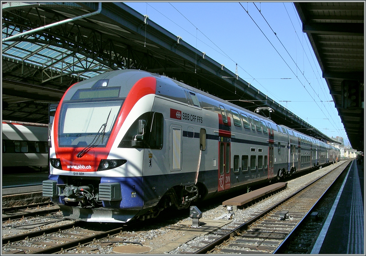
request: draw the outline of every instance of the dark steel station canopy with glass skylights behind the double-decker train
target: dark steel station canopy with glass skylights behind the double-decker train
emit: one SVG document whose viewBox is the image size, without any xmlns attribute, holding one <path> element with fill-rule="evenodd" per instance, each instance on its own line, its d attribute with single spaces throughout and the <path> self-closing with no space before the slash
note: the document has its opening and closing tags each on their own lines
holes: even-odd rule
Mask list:
<svg viewBox="0 0 366 256">
<path fill-rule="evenodd" d="M 7 2 L 2 15 L 3 120 L 48 123 L 49 104 L 76 82 L 105 71 L 140 69 L 224 100 L 241 98 L 236 105 L 259 108 L 277 124 L 339 143 L 126 4 Z M 62 24 L 49 26 L 57 22 Z"/>
</svg>

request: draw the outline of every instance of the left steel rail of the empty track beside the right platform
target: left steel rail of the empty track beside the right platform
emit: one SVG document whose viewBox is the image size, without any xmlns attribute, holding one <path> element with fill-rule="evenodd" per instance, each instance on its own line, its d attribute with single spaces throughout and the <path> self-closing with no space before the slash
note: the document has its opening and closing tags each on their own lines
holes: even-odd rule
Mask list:
<svg viewBox="0 0 366 256">
<path fill-rule="evenodd" d="M 349 163 L 349 162 L 348 162 Z M 348 165 L 347 163 L 347 165 Z M 341 164 L 340 166 L 343 166 L 345 163 Z M 340 167 L 339 166 L 339 167 Z M 347 167 L 347 166 L 346 166 Z M 338 167 L 337 167 L 338 168 Z M 334 169 L 333 169 L 334 170 Z M 228 241 L 232 236 L 234 236 L 234 234 L 240 232 L 243 229 L 246 229 L 249 225 L 253 224 L 255 221 L 259 220 L 260 218 L 262 218 L 263 216 L 265 216 L 266 214 L 268 214 L 269 212 L 271 212 L 272 210 L 276 209 L 276 207 L 280 206 L 281 204 L 283 204 L 284 202 L 288 201 L 289 199 L 291 199 L 292 197 L 294 197 L 295 195 L 297 195 L 298 193 L 300 193 L 301 191 L 303 191 L 304 189 L 306 189 L 307 187 L 309 187 L 310 185 L 313 185 L 315 182 L 319 181 L 320 179 L 322 179 L 323 177 L 325 177 L 328 173 L 330 173 L 331 171 L 327 172 L 326 174 L 322 175 L 321 177 L 319 177 L 318 179 L 315 179 L 313 182 L 309 183 L 308 185 L 306 185 L 305 187 L 302 187 L 301 189 L 299 189 L 298 191 L 296 191 L 295 193 L 293 193 L 292 195 L 288 196 L 287 198 L 281 200 L 280 202 L 276 203 L 275 205 L 273 205 L 272 207 L 268 208 L 267 210 L 261 212 L 260 214 L 258 214 L 257 216 L 251 218 L 249 221 L 244 222 L 242 225 L 238 226 L 237 228 L 231 230 L 230 232 L 224 234 L 223 236 L 221 236 L 220 238 L 212 241 L 211 243 L 209 243 L 208 245 L 202 247 L 201 249 L 195 251 L 193 254 L 206 254 L 210 251 L 212 251 L 213 249 L 215 249 L 215 247 L 217 245 L 220 245 L 226 241 Z"/>
</svg>

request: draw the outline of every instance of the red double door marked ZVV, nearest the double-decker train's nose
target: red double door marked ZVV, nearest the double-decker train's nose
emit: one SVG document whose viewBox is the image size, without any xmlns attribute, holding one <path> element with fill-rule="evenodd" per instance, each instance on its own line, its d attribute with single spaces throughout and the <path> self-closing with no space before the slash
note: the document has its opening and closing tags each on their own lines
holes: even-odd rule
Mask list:
<svg viewBox="0 0 366 256">
<path fill-rule="evenodd" d="M 221 137 L 222 138 L 222 137 Z M 226 138 L 224 138 L 226 139 Z M 230 142 L 219 142 L 219 184 L 217 191 L 230 188 Z"/>
</svg>

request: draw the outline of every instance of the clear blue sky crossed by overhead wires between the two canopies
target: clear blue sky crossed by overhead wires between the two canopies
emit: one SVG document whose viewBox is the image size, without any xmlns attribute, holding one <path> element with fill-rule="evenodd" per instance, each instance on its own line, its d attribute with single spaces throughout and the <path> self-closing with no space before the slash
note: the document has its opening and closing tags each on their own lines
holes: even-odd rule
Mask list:
<svg viewBox="0 0 366 256">
<path fill-rule="evenodd" d="M 329 137 L 343 137 L 347 144 L 294 4 L 240 3 L 126 2 L 232 72 L 238 63 L 240 78 Z"/>
</svg>

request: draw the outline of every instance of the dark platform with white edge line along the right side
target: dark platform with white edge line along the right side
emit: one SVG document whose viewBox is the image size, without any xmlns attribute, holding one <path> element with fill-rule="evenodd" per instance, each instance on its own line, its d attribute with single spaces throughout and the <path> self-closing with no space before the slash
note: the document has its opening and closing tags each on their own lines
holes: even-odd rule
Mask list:
<svg viewBox="0 0 366 256">
<path fill-rule="evenodd" d="M 311 254 L 365 254 L 364 165 L 352 161 Z"/>
</svg>

